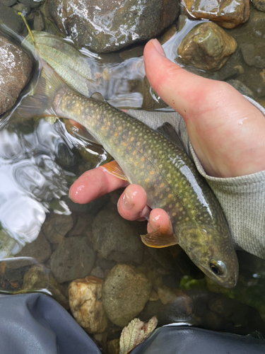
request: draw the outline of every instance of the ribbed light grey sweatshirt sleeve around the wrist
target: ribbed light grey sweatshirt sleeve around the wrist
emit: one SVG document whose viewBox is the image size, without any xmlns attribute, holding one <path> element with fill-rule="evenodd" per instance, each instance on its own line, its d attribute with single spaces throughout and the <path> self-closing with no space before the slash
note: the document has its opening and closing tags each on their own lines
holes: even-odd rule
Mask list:
<svg viewBox="0 0 265 354">
<path fill-rule="evenodd" d="M 251 98 L 246 96 L 245 98 L 255 105 L 265 118 L 265 109 Z M 176 112 L 143 110 L 129 110 L 129 114 L 153 129 L 162 125 L 163 122 L 169 122 L 175 128 L 199 173 L 206 178 L 216 194 L 228 220 L 235 248 L 244 249 L 265 259 L 265 171 L 233 178 L 208 176 L 189 141 L 186 125 L 181 115 Z"/>
</svg>

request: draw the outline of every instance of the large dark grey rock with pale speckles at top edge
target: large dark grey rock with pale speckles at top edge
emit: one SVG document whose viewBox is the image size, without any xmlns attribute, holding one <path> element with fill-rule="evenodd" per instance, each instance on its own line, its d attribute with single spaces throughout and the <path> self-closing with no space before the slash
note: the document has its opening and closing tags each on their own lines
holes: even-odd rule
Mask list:
<svg viewBox="0 0 265 354">
<path fill-rule="evenodd" d="M 112 52 L 161 33 L 179 14 L 175 0 L 47 0 L 45 15 L 79 46 Z"/>
</svg>

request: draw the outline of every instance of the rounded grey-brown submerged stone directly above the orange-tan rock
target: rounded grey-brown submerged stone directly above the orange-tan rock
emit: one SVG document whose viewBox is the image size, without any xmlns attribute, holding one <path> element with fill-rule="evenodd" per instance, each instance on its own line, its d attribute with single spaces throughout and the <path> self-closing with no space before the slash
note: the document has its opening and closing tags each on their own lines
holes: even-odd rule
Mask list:
<svg viewBox="0 0 265 354">
<path fill-rule="evenodd" d="M 52 253 L 51 269 L 59 282 L 83 278 L 90 273 L 95 253 L 87 237 L 67 237 Z"/>
</svg>

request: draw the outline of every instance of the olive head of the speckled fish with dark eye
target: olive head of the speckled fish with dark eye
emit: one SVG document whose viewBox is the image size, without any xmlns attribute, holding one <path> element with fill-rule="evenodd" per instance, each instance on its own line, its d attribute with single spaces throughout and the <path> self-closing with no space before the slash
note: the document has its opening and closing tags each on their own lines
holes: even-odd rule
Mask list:
<svg viewBox="0 0 265 354">
<path fill-rule="evenodd" d="M 185 227 L 181 239 L 179 245 L 209 278 L 223 287 L 235 287 L 239 266 L 228 229 Z"/>
</svg>

